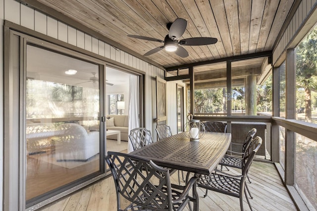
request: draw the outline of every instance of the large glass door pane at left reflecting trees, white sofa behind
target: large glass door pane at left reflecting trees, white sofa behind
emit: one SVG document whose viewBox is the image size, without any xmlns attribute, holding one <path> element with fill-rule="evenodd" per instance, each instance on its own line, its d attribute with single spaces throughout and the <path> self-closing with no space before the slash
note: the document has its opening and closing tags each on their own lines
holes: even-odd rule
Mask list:
<svg viewBox="0 0 317 211">
<path fill-rule="evenodd" d="M 26 45 L 26 202 L 101 169 L 100 65 Z"/>
</svg>

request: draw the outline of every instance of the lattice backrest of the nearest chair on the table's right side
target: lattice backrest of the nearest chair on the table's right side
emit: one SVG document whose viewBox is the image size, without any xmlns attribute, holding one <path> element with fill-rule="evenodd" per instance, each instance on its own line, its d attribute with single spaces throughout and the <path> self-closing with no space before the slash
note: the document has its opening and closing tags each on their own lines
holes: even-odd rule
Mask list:
<svg viewBox="0 0 317 211">
<path fill-rule="evenodd" d="M 245 156 L 242 161 L 242 175 L 244 176 L 247 175 L 255 155 L 258 152 L 259 148 L 261 147 L 261 144 L 262 144 L 262 138 L 259 136 L 255 137 L 251 141 L 249 147 L 247 148 L 245 152 Z"/>
</svg>

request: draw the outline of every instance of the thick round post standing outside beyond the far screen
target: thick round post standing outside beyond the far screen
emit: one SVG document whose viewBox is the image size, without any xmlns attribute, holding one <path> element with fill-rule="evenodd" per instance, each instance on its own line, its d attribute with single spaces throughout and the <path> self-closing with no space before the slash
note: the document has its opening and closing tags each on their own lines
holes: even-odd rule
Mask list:
<svg viewBox="0 0 317 211">
<path fill-rule="evenodd" d="M 247 76 L 246 115 L 257 115 L 257 77 L 255 75 Z"/>
</svg>

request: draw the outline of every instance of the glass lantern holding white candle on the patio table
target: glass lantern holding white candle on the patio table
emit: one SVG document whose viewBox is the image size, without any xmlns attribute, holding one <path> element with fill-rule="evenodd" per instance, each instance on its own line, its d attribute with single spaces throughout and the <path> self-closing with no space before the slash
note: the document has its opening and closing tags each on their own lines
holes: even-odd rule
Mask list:
<svg viewBox="0 0 317 211">
<path fill-rule="evenodd" d="M 205 126 L 199 120 L 193 120 L 193 115 L 187 116 L 189 122 L 184 126 L 184 131 L 188 131 L 188 136 L 191 141 L 199 141 L 205 134 Z"/>
</svg>

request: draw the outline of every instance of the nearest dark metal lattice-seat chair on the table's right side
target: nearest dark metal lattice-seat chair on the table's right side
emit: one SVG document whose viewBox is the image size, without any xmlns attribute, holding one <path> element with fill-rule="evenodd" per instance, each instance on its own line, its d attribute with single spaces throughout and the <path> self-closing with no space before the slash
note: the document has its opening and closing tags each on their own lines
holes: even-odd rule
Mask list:
<svg viewBox="0 0 317 211">
<path fill-rule="evenodd" d="M 243 195 L 246 196 L 249 207 L 252 211 L 247 193 L 245 192 L 246 177 L 252 161 L 262 144 L 262 138 L 256 137 L 246 150 L 242 161 L 242 174 L 231 175 L 221 170 L 215 169 L 210 175 L 203 175 L 197 182 L 198 187 L 223 193 L 240 199 L 240 209 L 243 211 Z M 253 197 L 251 197 L 253 198 Z"/>
</svg>

